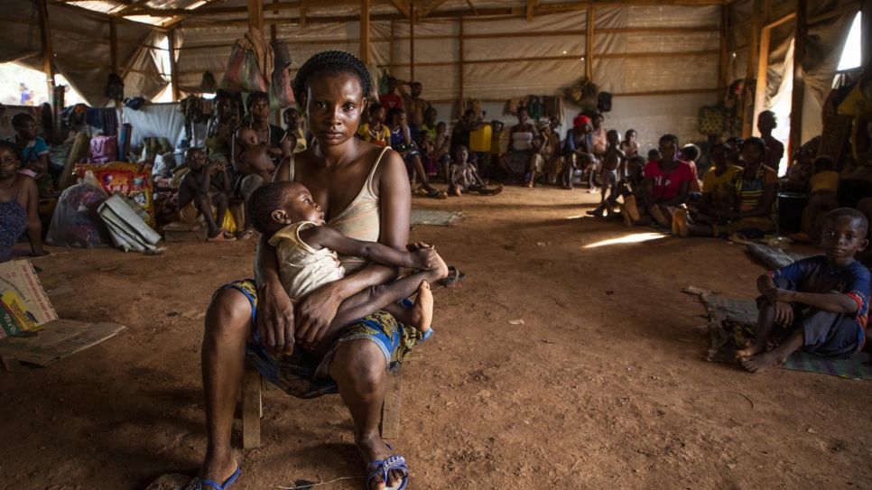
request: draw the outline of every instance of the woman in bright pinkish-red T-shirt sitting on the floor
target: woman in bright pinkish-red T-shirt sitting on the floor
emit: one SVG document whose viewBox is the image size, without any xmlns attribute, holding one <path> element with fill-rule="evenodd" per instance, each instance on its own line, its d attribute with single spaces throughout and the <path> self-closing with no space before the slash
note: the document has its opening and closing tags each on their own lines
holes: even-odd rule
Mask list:
<svg viewBox="0 0 872 490">
<path fill-rule="evenodd" d="M 660 160 L 645 165 L 645 180 L 639 195 L 624 201 L 621 214 L 630 218 L 627 225 L 650 225 L 652 219 L 661 227 L 672 227 L 674 208 L 684 204 L 691 190 L 693 171 L 687 162 L 678 159 L 678 136 L 663 134 L 660 137 Z"/>
</svg>

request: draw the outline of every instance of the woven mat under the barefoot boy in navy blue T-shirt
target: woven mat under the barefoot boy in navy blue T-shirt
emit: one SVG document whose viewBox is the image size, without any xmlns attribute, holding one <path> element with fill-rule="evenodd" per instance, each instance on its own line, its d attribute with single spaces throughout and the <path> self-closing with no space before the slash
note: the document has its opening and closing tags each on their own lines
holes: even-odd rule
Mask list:
<svg viewBox="0 0 872 490">
<path fill-rule="evenodd" d="M 735 300 L 700 294 L 709 313 L 710 348 L 706 360 L 736 364 L 736 351 L 754 338 L 757 306 L 754 300 Z M 848 358 L 833 359 L 802 351 L 794 352 L 782 365 L 793 371 L 830 374 L 850 379 L 872 380 L 872 354 L 859 352 Z"/>
</svg>

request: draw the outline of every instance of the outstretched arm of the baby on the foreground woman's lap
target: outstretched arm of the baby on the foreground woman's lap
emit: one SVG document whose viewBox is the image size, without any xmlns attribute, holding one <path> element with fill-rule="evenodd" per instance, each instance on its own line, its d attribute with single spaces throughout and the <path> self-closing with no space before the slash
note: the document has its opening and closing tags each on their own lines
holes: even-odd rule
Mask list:
<svg viewBox="0 0 872 490">
<path fill-rule="evenodd" d="M 402 252 L 378 242 L 362 242 L 348 238 L 330 227 L 311 227 L 300 232 L 300 238 L 312 248 L 329 248 L 339 254 L 351 255 L 382 265 L 410 267 L 429 271 L 438 266 L 437 254 L 432 246 L 414 252 Z"/>
</svg>

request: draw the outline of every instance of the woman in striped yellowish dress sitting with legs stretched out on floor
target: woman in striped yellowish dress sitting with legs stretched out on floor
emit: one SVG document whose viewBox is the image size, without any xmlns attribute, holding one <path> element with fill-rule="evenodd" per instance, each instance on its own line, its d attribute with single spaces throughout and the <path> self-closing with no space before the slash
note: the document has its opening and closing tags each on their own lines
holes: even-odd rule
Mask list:
<svg viewBox="0 0 872 490">
<path fill-rule="evenodd" d="M 775 233 L 775 197 L 778 194 L 778 176 L 766 167 L 766 143 L 762 138 L 748 138 L 742 146 L 744 170 L 736 183 L 736 204 L 723 213 L 724 222 L 714 225 L 686 222 L 681 214 L 675 216 L 675 229 L 682 236 L 735 236 L 737 240 L 762 238 Z M 685 228 L 686 227 L 686 228 Z M 686 229 L 686 231 L 685 231 Z"/>
</svg>

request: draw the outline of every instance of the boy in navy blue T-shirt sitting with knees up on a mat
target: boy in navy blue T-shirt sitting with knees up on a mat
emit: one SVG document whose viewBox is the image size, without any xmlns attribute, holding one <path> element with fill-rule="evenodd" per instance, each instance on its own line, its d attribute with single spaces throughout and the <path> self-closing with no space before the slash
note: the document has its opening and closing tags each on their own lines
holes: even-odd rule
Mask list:
<svg viewBox="0 0 872 490">
<path fill-rule="evenodd" d="M 750 372 L 781 365 L 793 351 L 847 357 L 866 340 L 869 271 L 854 260 L 868 245 L 869 222 L 857 209 L 830 211 L 821 227 L 824 255 L 794 262 L 757 279 L 760 308 L 754 344 L 736 353 Z M 775 326 L 786 339 L 766 350 Z"/>
</svg>

